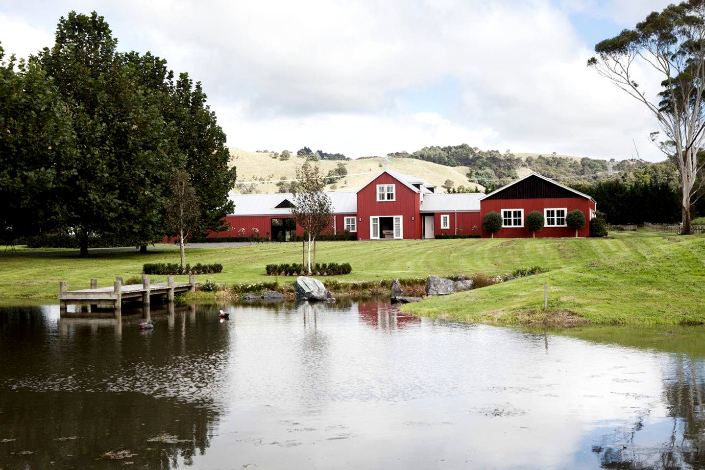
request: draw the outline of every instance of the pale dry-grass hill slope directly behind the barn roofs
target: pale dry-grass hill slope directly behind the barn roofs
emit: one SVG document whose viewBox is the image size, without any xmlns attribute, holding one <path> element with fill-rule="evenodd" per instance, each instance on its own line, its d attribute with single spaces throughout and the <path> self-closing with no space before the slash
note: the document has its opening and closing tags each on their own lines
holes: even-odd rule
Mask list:
<svg viewBox="0 0 705 470">
<path fill-rule="evenodd" d="M 257 181 L 255 190 L 260 193 L 278 192 L 276 183 L 265 183 L 266 181 L 277 181 L 281 179 L 295 178 L 296 168 L 304 163 L 305 159 L 293 154 L 290 159 L 281 161 L 271 158 L 271 153 L 260 151 L 246 151 L 242 149 L 231 148 L 231 164 L 238 168 L 238 182 Z M 339 183 L 335 187 L 329 187 L 336 191 L 357 190 L 369 180 L 374 178 L 374 175 L 382 171 L 380 157 L 372 157 L 369 159 L 357 160 L 321 160 L 319 165 L 323 173 L 328 173 L 338 166 L 338 163 L 343 163 L 348 175 L 344 178 L 339 178 Z M 390 157 L 388 159 L 388 168 L 396 170 L 400 173 L 419 176 L 433 183 L 438 187 L 446 183 L 446 180 L 451 180 L 455 186 L 477 186 L 479 190 L 483 190 L 482 185 L 475 185 L 467 182 L 467 166 L 445 166 L 430 161 L 422 161 L 418 159 L 406 159 Z M 235 192 L 242 192 L 242 189 L 236 188 Z"/>
</svg>

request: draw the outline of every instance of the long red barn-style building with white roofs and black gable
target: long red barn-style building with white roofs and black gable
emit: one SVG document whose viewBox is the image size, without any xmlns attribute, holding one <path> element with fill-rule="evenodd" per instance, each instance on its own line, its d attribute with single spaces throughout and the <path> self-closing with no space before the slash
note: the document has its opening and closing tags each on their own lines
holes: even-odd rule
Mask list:
<svg viewBox="0 0 705 470">
<path fill-rule="evenodd" d="M 565 216 L 580 209 L 587 221 L 594 217 L 595 202 L 582 192 L 531 173 L 490 194 L 443 194 L 422 178 L 385 170 L 357 192 L 329 192 L 333 223 L 326 233 L 349 230 L 357 240 L 428 239 L 436 235 L 482 235 L 482 219 L 490 211 L 503 216 L 496 237 L 531 237 L 525 228 L 527 214 L 544 214 L 544 230 L 537 237 L 573 237 Z M 302 235 L 291 216 L 292 194 L 231 194 L 231 228 L 212 237 L 249 236 L 253 229 L 271 240 Z M 242 230 L 244 229 L 244 230 Z M 281 233 L 281 235 L 280 235 Z M 578 236 L 589 235 L 589 222 Z"/>
</svg>

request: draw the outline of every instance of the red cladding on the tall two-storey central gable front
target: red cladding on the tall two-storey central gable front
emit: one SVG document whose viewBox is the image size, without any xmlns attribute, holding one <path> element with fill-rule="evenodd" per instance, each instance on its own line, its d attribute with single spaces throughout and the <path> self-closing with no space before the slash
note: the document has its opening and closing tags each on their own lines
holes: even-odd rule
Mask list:
<svg viewBox="0 0 705 470">
<path fill-rule="evenodd" d="M 377 185 L 396 185 L 396 200 L 377 202 Z M 369 218 L 372 216 L 402 216 L 403 237 L 421 238 L 419 205 L 419 193 L 392 175 L 382 173 L 357 192 L 357 240 L 369 240 Z"/>
</svg>

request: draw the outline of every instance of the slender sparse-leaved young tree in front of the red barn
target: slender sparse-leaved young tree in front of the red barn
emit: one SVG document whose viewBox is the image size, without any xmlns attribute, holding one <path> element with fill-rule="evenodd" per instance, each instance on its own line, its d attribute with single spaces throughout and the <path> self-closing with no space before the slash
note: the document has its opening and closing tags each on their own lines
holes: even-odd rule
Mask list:
<svg viewBox="0 0 705 470">
<path fill-rule="evenodd" d="M 308 273 L 311 273 L 311 243 L 315 244 L 316 237 L 333 222 L 333 205 L 331 198 L 323 190 L 326 187 L 326 178 L 321 174 L 318 166 L 306 162 L 296 170 L 297 185 L 293 194 L 293 207 L 291 213 L 296 223 L 301 225 L 308 234 Z"/>
</svg>

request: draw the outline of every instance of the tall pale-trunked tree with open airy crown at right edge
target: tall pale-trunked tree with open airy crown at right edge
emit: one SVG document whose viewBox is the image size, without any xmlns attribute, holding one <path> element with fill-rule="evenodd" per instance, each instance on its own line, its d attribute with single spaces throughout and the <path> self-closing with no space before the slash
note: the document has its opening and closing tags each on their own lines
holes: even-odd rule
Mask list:
<svg viewBox="0 0 705 470">
<path fill-rule="evenodd" d="M 588 65 L 642 102 L 666 135 L 658 147 L 678 167 L 682 233 L 690 233 L 693 196 L 704 180 L 705 165 L 698 159 L 705 144 L 705 0 L 654 11 L 635 29 L 596 44 L 595 52 Z M 658 93 L 640 86 L 635 76 L 640 65 L 660 75 Z M 658 133 L 652 140 L 659 140 Z"/>
</svg>

